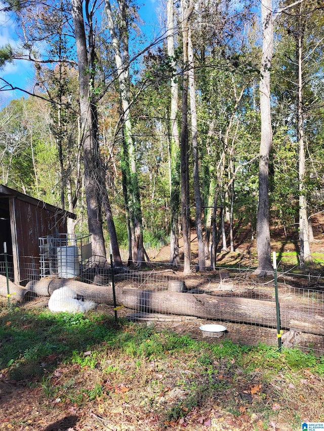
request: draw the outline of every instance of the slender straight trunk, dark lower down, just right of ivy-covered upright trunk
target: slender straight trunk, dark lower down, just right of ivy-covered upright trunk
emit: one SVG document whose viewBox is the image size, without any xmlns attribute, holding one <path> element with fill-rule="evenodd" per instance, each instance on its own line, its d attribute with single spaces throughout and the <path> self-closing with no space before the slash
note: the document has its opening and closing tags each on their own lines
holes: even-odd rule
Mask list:
<svg viewBox="0 0 324 431">
<path fill-rule="evenodd" d="M 182 0 L 182 44 L 183 44 L 183 82 L 181 105 L 181 223 L 184 252 L 184 273 L 190 273 L 190 208 L 189 208 L 189 160 L 188 160 L 188 18 L 189 1 Z"/>
</svg>

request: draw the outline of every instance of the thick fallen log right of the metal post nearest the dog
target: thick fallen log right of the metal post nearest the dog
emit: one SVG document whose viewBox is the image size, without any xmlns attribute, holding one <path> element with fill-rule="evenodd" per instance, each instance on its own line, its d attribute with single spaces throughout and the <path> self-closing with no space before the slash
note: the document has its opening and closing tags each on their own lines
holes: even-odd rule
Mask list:
<svg viewBox="0 0 324 431">
<path fill-rule="evenodd" d="M 144 313 L 188 315 L 276 327 L 274 301 L 136 289 L 123 289 L 118 301 L 125 307 Z M 285 303 L 280 306 L 280 320 L 282 329 L 324 335 L 324 312 L 321 307 Z"/>
</svg>

